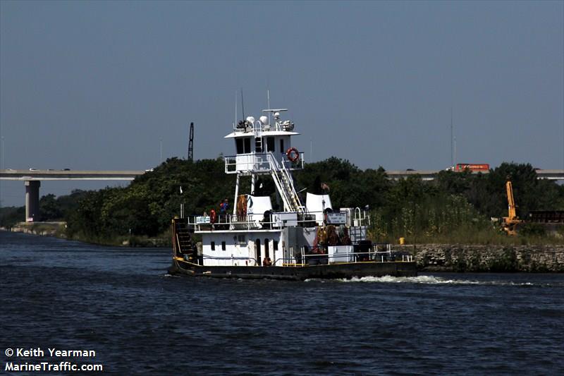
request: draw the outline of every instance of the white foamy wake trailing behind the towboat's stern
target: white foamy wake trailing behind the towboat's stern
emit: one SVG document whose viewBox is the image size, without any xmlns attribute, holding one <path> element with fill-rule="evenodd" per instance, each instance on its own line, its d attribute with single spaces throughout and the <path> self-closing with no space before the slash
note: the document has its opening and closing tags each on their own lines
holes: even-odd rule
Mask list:
<svg viewBox="0 0 564 376">
<path fill-rule="evenodd" d="M 319 279 L 306 279 L 306 281 L 319 281 Z M 386 283 L 386 284 L 436 284 L 436 285 L 486 285 L 486 286 L 555 286 L 554 284 L 533 283 L 533 282 L 517 282 L 517 281 L 477 281 L 472 279 L 448 279 L 436 277 L 433 275 L 423 275 L 417 277 L 353 277 L 351 279 L 338 279 L 338 281 L 346 283 L 364 282 L 364 283 Z"/>
</svg>

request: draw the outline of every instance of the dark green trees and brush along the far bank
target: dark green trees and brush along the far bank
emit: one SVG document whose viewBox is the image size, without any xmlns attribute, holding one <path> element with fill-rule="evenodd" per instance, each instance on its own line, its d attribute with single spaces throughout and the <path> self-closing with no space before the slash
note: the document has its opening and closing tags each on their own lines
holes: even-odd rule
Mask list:
<svg viewBox="0 0 564 376">
<path fill-rule="evenodd" d="M 225 174 L 224 168 L 221 156 L 196 162 L 171 158 L 125 188 L 76 190 L 59 198 L 45 195 L 40 214 L 42 220 L 65 220 L 69 238 L 107 242 L 120 236 L 167 236 L 180 204 L 186 214 L 201 214 L 219 212 L 224 198 L 233 201 L 235 176 Z M 329 193 L 335 208 L 367 205 L 369 231 L 376 241 L 503 241 L 495 219 L 507 216 L 507 179 L 513 182 L 521 218 L 531 210 L 564 210 L 564 187 L 537 179 L 530 164 L 503 163 L 489 174 L 441 171 L 433 181 L 418 176 L 391 180 L 381 167 L 362 170 L 331 157 L 306 164 L 294 178 L 304 195 Z M 271 178 L 259 178 L 255 186 L 255 194 L 271 195 L 276 210 Z M 250 178 L 243 178 L 240 187 L 240 193 L 250 193 Z M 23 207 L 3 208 L 0 224 L 13 225 L 23 216 Z"/>
</svg>

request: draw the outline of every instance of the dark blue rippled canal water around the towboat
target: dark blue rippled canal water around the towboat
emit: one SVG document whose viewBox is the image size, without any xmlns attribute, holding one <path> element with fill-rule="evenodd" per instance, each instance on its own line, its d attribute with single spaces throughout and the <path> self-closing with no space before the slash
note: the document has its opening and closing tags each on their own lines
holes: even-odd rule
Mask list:
<svg viewBox="0 0 564 376">
<path fill-rule="evenodd" d="M 166 274 L 170 258 L 0 231 L 0 373 L 62 361 L 116 375 L 564 370 L 563 274 L 190 279 Z M 18 348 L 44 355 L 8 356 Z"/>
</svg>

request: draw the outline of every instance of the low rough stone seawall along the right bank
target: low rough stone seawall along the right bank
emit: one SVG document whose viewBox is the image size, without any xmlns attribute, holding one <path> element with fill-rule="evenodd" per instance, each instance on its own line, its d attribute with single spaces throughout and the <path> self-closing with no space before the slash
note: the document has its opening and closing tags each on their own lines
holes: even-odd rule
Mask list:
<svg viewBox="0 0 564 376">
<path fill-rule="evenodd" d="M 564 272 L 564 245 L 400 246 L 423 272 Z"/>
</svg>

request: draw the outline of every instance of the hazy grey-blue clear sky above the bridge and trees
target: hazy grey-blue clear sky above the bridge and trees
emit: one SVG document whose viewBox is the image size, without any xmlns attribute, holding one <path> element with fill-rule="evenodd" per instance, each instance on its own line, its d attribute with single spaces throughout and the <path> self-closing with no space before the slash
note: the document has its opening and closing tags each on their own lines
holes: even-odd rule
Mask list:
<svg viewBox="0 0 564 376">
<path fill-rule="evenodd" d="M 150 169 L 191 121 L 195 159 L 232 155 L 241 90 L 306 162 L 445 169 L 452 114 L 456 162 L 564 169 L 564 2 L 0 1 L 1 169 Z"/>
</svg>

